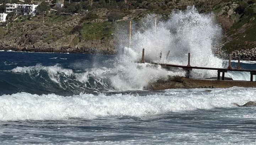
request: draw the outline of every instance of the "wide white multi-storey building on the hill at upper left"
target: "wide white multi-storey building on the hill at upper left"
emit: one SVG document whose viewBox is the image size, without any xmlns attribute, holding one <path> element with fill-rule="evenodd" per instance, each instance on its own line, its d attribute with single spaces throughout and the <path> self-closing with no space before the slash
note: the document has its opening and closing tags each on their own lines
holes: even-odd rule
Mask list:
<svg viewBox="0 0 256 145">
<path fill-rule="evenodd" d="M 15 12 L 16 15 L 36 15 L 37 6 L 34 4 L 6 4 L 6 13 Z"/>
</svg>

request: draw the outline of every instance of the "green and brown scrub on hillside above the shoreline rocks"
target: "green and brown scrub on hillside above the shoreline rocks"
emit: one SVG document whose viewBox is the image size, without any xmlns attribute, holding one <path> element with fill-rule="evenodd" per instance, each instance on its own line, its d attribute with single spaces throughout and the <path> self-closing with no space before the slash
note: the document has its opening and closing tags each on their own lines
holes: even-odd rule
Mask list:
<svg viewBox="0 0 256 145">
<path fill-rule="evenodd" d="M 31 2 L 25 0 L 27 4 Z M 36 4 L 36 1 L 33 2 Z M 194 5 L 200 13 L 214 12 L 225 34 L 223 40 L 227 40 L 223 48 L 231 52 L 256 47 L 255 2 L 256 0 L 65 0 L 63 8 L 42 2 L 37 7 L 37 16 L 17 16 L 13 23 L 14 28 L 21 28 L 21 24 L 33 26 L 26 26 L 28 30 L 13 34 L 22 37 L 29 30 L 44 32 L 48 29 L 49 32 L 40 37 L 43 42 L 50 44 L 66 37 L 67 41 L 71 39 L 67 43 L 76 46 L 84 41 L 113 39 L 114 23 L 125 23 L 122 20 L 137 21 L 147 13 L 156 13 L 163 19 L 168 19 L 173 10 L 185 10 L 187 6 Z M 5 4 L 10 3 L 10 0 L 0 0 L 1 3 L 3 5 L 0 6 L 0 12 L 4 12 Z M 55 11 L 48 13 L 50 9 Z M 16 15 L 9 13 L 7 19 L 10 22 L 15 17 Z M 12 25 L 9 24 L 9 27 Z M 1 28 L 0 35 L 6 35 L 7 38 L 10 34 Z"/>
</svg>

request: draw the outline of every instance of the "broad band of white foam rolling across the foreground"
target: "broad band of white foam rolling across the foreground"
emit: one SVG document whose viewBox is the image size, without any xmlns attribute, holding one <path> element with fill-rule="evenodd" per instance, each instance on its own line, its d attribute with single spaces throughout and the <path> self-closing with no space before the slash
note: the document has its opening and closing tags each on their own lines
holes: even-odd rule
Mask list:
<svg viewBox="0 0 256 145">
<path fill-rule="evenodd" d="M 168 112 L 237 107 L 232 103 L 242 105 L 256 100 L 256 90 L 251 88 L 213 89 L 210 93 L 205 90 L 173 89 L 162 95 L 147 96 L 80 94 L 64 97 L 29 93 L 2 95 L 0 121 L 58 120 L 73 117 L 94 119 L 108 116 L 133 116 L 143 119 Z M 249 117 L 256 117 L 256 113 Z"/>
</svg>

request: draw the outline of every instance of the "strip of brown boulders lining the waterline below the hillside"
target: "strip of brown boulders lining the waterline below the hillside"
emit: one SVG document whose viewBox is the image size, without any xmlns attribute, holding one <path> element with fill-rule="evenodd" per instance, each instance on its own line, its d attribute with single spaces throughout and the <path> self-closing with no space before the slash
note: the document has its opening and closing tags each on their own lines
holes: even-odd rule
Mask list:
<svg viewBox="0 0 256 145">
<path fill-rule="evenodd" d="M 89 43 L 89 44 L 88 44 Z M 117 50 L 113 46 L 109 46 L 109 42 L 95 40 L 89 41 L 84 46 L 56 46 L 47 43 L 34 43 L 30 46 L 9 45 L 8 43 L 0 43 L 0 50 L 4 51 L 23 51 L 23 52 L 53 52 L 53 53 L 81 53 L 81 54 L 116 54 Z M 113 43 L 113 42 L 112 42 Z M 106 47 L 107 46 L 107 47 Z M 228 59 L 228 54 L 222 50 L 222 44 L 213 49 L 213 54 L 222 59 Z M 256 48 L 247 50 L 236 50 L 231 53 L 232 60 L 256 61 Z"/>
</svg>

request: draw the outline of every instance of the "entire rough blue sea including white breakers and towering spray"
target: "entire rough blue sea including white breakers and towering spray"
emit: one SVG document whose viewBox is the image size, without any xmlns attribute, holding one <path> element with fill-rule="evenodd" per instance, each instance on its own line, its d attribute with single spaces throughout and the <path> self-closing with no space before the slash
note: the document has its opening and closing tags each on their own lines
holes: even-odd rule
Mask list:
<svg viewBox="0 0 256 145">
<path fill-rule="evenodd" d="M 190 52 L 191 66 L 228 63 L 213 55 L 221 27 L 211 14 L 188 7 L 157 26 L 155 17 L 143 18 L 141 29 L 133 25 L 131 40 L 125 30 L 116 32 L 115 55 L 0 51 L 0 144 L 255 145 L 256 106 L 234 105 L 256 101 L 255 88 L 146 89 L 185 72 L 137 63 L 142 48 L 147 62 L 186 65 Z M 256 69 L 256 62 L 240 66 Z M 250 73 L 226 77 L 250 80 Z"/>
</svg>

